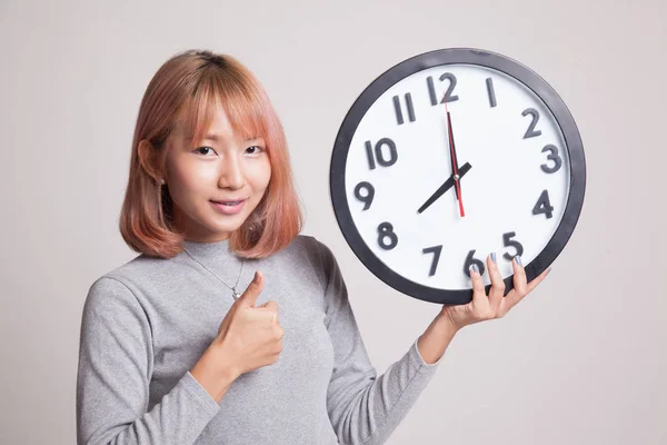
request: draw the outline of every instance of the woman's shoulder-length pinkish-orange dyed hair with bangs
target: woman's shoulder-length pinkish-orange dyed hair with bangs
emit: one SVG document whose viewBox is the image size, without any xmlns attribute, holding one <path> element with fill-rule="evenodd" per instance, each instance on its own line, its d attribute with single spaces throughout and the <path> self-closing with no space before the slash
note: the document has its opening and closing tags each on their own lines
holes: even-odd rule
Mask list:
<svg viewBox="0 0 667 445">
<path fill-rule="evenodd" d="M 135 251 L 170 258 L 182 251 L 185 234 L 173 227 L 167 186 L 139 160 L 138 147 L 148 141 L 156 150 L 157 169 L 165 170 L 179 117 L 183 131 L 201 141 L 216 103 L 225 107 L 235 131 L 261 137 L 271 165 L 271 179 L 257 208 L 230 237 L 230 248 L 245 258 L 263 258 L 289 245 L 302 228 L 293 189 L 282 125 L 255 76 L 239 61 L 208 50 L 173 56 L 153 76 L 141 100 L 128 187 L 120 215 L 120 233 Z"/>
</svg>

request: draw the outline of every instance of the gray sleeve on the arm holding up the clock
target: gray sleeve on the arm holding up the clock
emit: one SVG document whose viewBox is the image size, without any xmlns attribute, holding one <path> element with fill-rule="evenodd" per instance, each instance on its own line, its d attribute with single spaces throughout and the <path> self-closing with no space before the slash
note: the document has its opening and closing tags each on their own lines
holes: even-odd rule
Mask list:
<svg viewBox="0 0 667 445">
<path fill-rule="evenodd" d="M 417 339 L 387 372 L 377 376 L 364 346 L 340 269 L 330 249 L 317 241 L 325 271 L 326 324 L 334 344 L 327 411 L 345 445 L 384 444 L 417 400 L 440 358 L 427 364 Z"/>
</svg>

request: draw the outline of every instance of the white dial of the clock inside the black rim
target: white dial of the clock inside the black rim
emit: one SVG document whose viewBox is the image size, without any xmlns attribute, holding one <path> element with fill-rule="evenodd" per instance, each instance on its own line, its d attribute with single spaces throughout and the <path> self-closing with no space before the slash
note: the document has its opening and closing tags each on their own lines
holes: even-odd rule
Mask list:
<svg viewBox="0 0 667 445">
<path fill-rule="evenodd" d="M 454 174 L 447 91 L 458 168 L 470 165 L 460 179 L 465 216 L 455 187 L 417 211 Z M 508 277 L 518 248 L 525 265 L 545 249 L 566 208 L 568 162 L 556 118 L 524 83 L 487 67 L 436 66 L 370 105 L 349 144 L 345 192 L 379 261 L 412 283 L 469 289 L 472 250 L 485 265 L 495 251 Z"/>
</svg>

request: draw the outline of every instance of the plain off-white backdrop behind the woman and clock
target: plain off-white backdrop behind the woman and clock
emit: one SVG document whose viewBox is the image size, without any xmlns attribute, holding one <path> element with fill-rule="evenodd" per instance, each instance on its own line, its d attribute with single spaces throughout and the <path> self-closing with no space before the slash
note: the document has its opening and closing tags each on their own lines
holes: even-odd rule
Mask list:
<svg viewBox="0 0 667 445">
<path fill-rule="evenodd" d="M 81 308 L 135 257 L 117 222 L 141 96 L 177 51 L 245 62 L 285 123 L 306 233 L 345 275 L 379 372 L 439 308 L 388 288 L 329 200 L 345 113 L 388 67 L 445 47 L 522 61 L 579 125 L 588 185 L 548 279 L 474 325 L 389 444 L 667 443 L 667 4 L 659 0 L 0 0 L 0 443 L 74 443 Z"/>
</svg>

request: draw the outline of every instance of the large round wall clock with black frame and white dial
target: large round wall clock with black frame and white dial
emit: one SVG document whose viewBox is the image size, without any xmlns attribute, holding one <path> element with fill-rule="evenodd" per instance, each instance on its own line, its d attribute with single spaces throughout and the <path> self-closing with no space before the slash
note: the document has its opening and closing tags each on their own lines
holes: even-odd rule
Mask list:
<svg viewBox="0 0 667 445">
<path fill-rule="evenodd" d="M 573 234 L 586 161 L 573 116 L 535 71 L 499 53 L 442 49 L 378 77 L 340 127 L 330 168 L 338 225 L 378 278 L 438 304 L 471 300 L 469 267 L 506 291 Z"/>
</svg>

